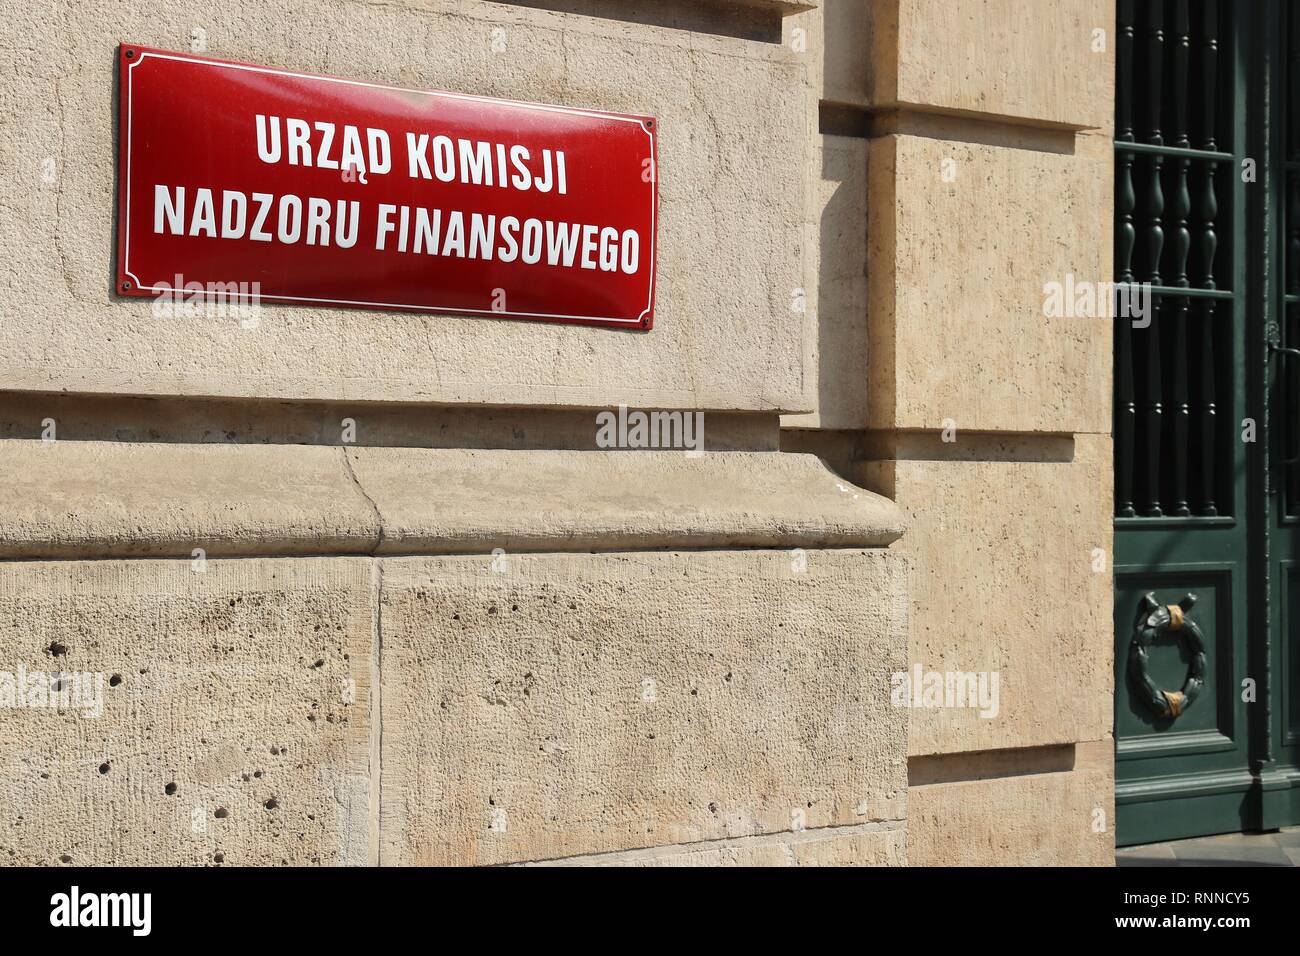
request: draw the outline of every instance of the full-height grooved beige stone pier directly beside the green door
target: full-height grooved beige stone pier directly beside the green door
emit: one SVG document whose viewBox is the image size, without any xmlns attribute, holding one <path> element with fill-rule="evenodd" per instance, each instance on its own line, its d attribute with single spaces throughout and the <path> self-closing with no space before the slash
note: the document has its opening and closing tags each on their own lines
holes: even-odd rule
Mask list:
<svg viewBox="0 0 1300 956">
<path fill-rule="evenodd" d="M 822 402 L 783 447 L 907 514 L 909 667 L 1000 678 L 996 717 L 911 711 L 916 864 L 1112 861 L 1112 325 L 1045 315 L 1044 286 L 1112 274 L 1114 9 L 1032 7 L 798 18 L 833 200 Z"/>
</svg>

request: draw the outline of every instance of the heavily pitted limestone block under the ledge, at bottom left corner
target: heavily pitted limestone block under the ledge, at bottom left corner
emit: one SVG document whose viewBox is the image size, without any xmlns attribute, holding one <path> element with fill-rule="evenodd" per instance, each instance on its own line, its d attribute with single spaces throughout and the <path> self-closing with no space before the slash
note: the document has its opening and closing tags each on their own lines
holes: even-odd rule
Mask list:
<svg viewBox="0 0 1300 956">
<path fill-rule="evenodd" d="M 0 709 L 0 862 L 367 864 L 372 606 L 350 558 L 0 564 L 0 671 L 69 693 Z"/>
</svg>

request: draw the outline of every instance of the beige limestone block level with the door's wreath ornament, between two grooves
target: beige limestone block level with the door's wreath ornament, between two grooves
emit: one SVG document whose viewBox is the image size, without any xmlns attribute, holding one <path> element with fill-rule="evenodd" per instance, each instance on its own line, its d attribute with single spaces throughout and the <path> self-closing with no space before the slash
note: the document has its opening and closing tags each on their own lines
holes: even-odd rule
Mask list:
<svg viewBox="0 0 1300 956">
<path fill-rule="evenodd" d="M 913 709 L 909 753 L 1098 739 L 1113 719 L 1110 438 L 957 437 L 863 470 L 910 519 L 894 545 L 914 568 L 909 667 L 998 679 L 991 717 Z"/>
</svg>

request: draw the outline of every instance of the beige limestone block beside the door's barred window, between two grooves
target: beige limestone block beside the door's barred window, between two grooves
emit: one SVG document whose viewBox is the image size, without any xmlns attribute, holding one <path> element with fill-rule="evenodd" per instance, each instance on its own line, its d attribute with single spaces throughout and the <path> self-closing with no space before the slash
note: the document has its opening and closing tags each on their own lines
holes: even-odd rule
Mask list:
<svg viewBox="0 0 1300 956">
<path fill-rule="evenodd" d="M 872 140 L 872 427 L 1109 433 L 1112 320 L 1045 313 L 1049 282 L 1112 277 L 1110 146 L 1076 143 Z"/>
</svg>

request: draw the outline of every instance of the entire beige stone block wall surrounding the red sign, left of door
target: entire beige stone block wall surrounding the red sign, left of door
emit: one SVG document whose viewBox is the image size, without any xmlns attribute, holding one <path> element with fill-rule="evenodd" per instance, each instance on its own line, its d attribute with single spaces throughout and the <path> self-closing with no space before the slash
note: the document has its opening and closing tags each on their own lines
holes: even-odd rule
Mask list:
<svg viewBox="0 0 1300 956">
<path fill-rule="evenodd" d="M 1113 10 L 1041 8 L 4 4 L 0 672 L 103 684 L 0 710 L 0 862 L 1105 861 Z M 116 295 L 114 52 L 200 40 L 655 116 L 654 330 Z"/>
</svg>

